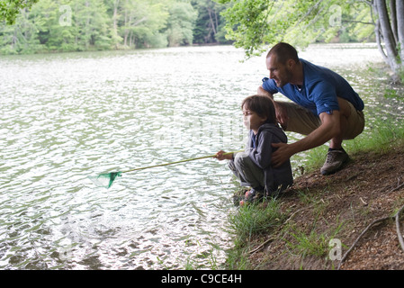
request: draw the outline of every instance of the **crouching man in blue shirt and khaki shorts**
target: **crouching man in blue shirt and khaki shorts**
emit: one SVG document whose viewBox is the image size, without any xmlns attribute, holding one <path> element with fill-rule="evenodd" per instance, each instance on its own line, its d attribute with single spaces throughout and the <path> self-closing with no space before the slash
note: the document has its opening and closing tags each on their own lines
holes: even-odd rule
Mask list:
<svg viewBox="0 0 404 288">
<path fill-rule="evenodd" d="M 266 57 L 269 79 L 263 79 L 258 94 L 281 93 L 292 103 L 274 101 L 277 121 L 283 130 L 307 135 L 277 148 L 272 163 L 280 166 L 292 155 L 328 141 L 327 160 L 322 175 L 337 172 L 349 159 L 342 141 L 354 139 L 364 130 L 364 102 L 342 76 L 298 58 L 290 44 L 278 43 Z"/>
</svg>

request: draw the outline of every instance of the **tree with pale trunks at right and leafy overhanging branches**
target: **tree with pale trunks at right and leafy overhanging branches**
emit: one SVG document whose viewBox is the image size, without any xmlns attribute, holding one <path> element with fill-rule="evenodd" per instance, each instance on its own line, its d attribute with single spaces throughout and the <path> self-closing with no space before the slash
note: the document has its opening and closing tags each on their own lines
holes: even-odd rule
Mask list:
<svg viewBox="0 0 404 288">
<path fill-rule="evenodd" d="M 288 41 L 305 47 L 316 40 L 329 41 L 355 23 L 375 37 L 382 57 L 399 75 L 404 70 L 403 0 L 215 0 L 231 4 L 224 12 L 228 38 L 246 50 L 247 58 L 267 45 Z M 365 12 L 365 13 L 364 13 Z M 372 35 L 371 35 L 372 34 Z"/>
</svg>

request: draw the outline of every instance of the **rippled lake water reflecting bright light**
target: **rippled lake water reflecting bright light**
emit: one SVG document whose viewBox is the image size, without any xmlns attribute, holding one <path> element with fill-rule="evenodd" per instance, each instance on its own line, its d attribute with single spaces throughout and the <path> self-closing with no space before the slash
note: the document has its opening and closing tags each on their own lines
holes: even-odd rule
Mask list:
<svg viewBox="0 0 404 288">
<path fill-rule="evenodd" d="M 225 162 L 128 173 L 110 189 L 87 176 L 242 148 L 239 104 L 267 75 L 265 56 L 243 58 L 229 46 L 0 57 L 0 269 L 220 264 L 238 189 Z M 370 120 L 402 112 L 369 78 L 375 45 L 301 58 L 346 76 Z"/>
</svg>

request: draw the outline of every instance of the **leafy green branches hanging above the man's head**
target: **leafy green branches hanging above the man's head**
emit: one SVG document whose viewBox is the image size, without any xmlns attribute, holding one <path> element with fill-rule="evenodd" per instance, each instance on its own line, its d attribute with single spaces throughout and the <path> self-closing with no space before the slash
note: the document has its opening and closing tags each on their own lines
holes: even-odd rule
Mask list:
<svg viewBox="0 0 404 288">
<path fill-rule="evenodd" d="M 229 40 L 261 54 L 268 45 L 287 41 L 305 47 L 313 41 L 367 40 L 373 35 L 370 7 L 357 1 L 217 0 L 232 4 L 223 14 Z M 371 27 L 369 29 L 369 27 Z"/>
</svg>

